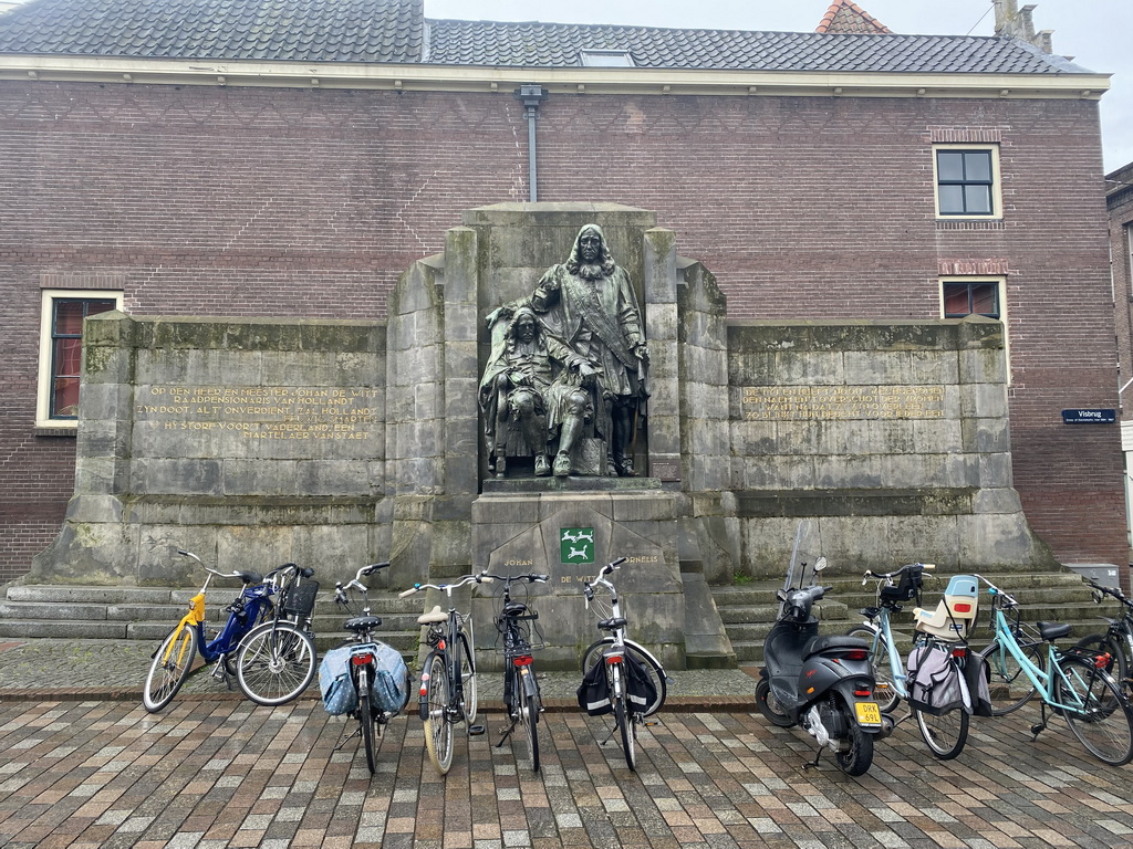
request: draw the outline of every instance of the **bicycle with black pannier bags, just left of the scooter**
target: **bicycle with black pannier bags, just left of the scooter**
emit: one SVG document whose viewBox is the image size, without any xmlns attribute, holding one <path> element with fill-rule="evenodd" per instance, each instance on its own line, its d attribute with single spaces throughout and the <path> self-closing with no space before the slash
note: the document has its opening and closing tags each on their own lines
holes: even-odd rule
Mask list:
<svg viewBox="0 0 1133 849">
<path fill-rule="evenodd" d="M 625 755 L 625 765 L 631 770 L 637 770 L 637 729 L 645 724 L 646 717 L 651 717 L 665 704 L 668 693 L 668 676 L 653 653 L 640 643 L 634 643 L 625 636 L 628 620 L 622 616 L 621 601 L 617 598 L 617 590 L 606 575 L 612 574 L 625 563 L 624 557 L 606 564 L 598 574 L 582 584 L 582 592 L 586 597 L 586 608 L 595 606 L 598 612 L 599 631 L 608 632 L 600 640 L 594 642 L 582 653 L 582 687 L 579 689 L 579 701 L 588 713 L 610 712 L 614 714 L 614 730 L 621 737 L 622 753 Z M 602 599 L 595 588 L 604 588 L 608 593 L 608 600 Z M 627 663 L 629 659 L 629 663 Z M 602 671 L 604 670 L 604 672 Z M 634 683 L 633 677 L 642 676 Z M 645 695 L 636 686 L 644 691 Z M 599 695 L 597 701 L 588 701 L 587 688 L 598 686 Z M 610 736 L 613 737 L 614 730 Z M 610 737 L 606 738 L 608 743 Z"/>
</svg>

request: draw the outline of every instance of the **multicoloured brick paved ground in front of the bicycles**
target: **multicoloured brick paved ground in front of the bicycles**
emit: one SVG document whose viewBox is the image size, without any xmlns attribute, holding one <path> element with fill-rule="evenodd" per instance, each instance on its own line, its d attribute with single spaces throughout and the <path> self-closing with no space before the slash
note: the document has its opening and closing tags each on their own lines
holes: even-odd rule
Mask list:
<svg viewBox="0 0 1133 849">
<path fill-rule="evenodd" d="M 937 762 L 911 726 L 850 779 L 803 770 L 809 738 L 750 713 L 666 713 L 639 772 L 602 719 L 546 717 L 542 775 L 510 745 L 458 739 L 440 778 L 416 718 L 394 720 L 370 779 L 346 727 L 301 700 L 274 710 L 178 700 L 0 703 L 0 846 L 729 849 L 1133 844 L 1133 766 L 1092 761 L 1037 711 L 973 722 Z M 488 715 L 489 732 L 499 718 Z"/>
</svg>

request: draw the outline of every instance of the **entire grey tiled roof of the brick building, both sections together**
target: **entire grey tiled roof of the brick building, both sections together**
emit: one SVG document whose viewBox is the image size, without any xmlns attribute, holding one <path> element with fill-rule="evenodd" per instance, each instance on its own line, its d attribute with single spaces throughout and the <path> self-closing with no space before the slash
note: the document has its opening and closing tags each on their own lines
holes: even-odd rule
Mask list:
<svg viewBox="0 0 1133 849">
<path fill-rule="evenodd" d="M 1084 74 L 1012 38 L 426 20 L 423 0 L 29 0 L 0 54 L 562 68 L 582 50 L 641 68 Z"/>
</svg>

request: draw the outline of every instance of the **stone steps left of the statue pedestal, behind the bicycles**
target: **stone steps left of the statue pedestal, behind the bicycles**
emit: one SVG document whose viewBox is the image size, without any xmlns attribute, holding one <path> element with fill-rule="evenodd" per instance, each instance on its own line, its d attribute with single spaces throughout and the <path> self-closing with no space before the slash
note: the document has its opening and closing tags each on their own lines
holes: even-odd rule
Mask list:
<svg viewBox="0 0 1133 849">
<path fill-rule="evenodd" d="M 333 588 L 332 588 L 333 590 Z M 0 601 L 0 638 L 59 637 L 71 640 L 139 640 L 157 642 L 185 616 L 194 589 L 135 586 L 63 586 L 9 584 Z M 228 618 L 224 608 L 235 588 L 210 588 L 205 631 L 210 636 Z M 373 590 L 370 612 L 382 618 L 382 640 L 414 663 L 417 658 L 420 598 Z M 335 607 L 333 592 L 320 592 L 315 603 L 315 645 L 326 651 L 347 636 L 342 623 L 360 614 Z"/>
</svg>

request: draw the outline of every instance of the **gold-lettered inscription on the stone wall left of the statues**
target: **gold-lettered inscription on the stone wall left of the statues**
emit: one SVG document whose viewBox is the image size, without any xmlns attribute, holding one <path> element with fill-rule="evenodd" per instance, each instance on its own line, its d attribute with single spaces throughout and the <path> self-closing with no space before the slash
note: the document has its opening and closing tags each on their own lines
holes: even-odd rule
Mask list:
<svg viewBox="0 0 1133 849">
<path fill-rule="evenodd" d="M 380 423 L 377 389 L 152 386 L 135 414 L 165 430 L 228 430 L 249 439 L 365 439 Z"/>
</svg>

